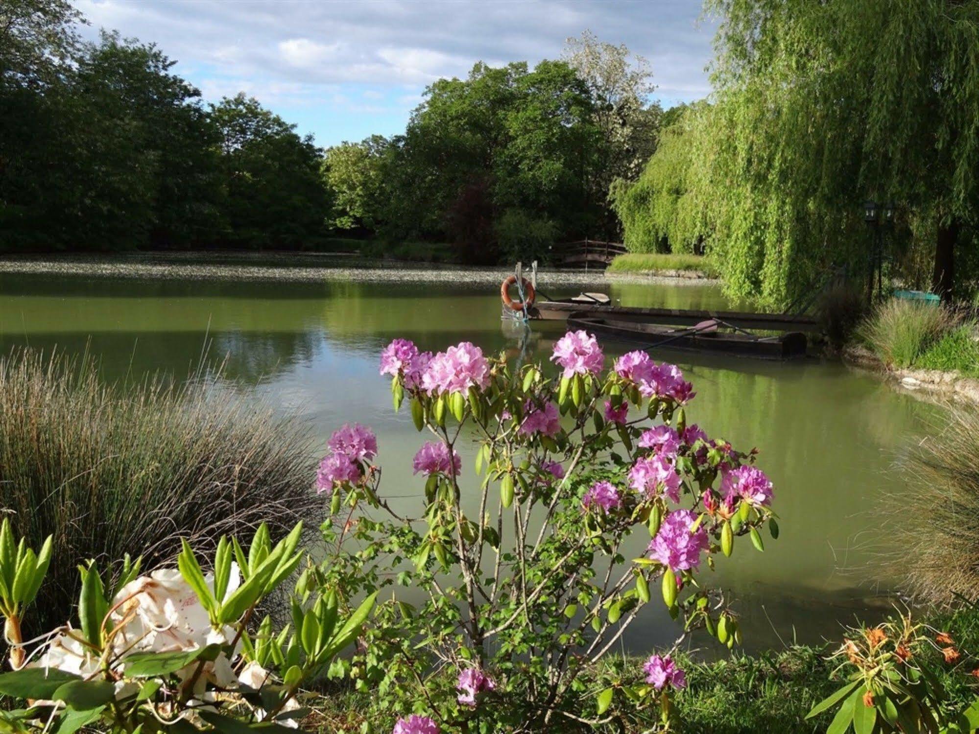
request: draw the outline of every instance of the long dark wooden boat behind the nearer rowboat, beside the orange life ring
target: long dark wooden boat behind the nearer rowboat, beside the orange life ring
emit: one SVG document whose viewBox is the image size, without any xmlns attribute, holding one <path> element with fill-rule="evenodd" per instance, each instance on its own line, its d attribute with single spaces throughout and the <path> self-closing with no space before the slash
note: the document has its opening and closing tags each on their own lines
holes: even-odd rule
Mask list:
<svg viewBox="0 0 979 734">
<path fill-rule="evenodd" d="M 783 313 L 746 313 L 742 311 L 708 311 L 683 308 L 636 308 L 604 303 L 584 303 L 566 300 L 542 300 L 534 304 L 531 316 L 544 321 L 564 321 L 574 313 L 591 314 L 615 321 L 669 326 L 696 326 L 709 319 L 718 319 L 739 329 L 762 331 L 818 331 L 812 316 L 792 316 Z"/>
</svg>

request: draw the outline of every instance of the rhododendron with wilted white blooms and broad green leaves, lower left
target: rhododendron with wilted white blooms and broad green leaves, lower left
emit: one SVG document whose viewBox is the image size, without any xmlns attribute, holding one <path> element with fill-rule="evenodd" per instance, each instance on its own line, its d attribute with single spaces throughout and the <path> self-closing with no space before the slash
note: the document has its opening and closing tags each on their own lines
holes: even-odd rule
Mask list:
<svg viewBox="0 0 979 734">
<path fill-rule="evenodd" d="M 127 557 L 112 586 L 89 562 L 79 567 L 77 624 L 32 641 L 30 650 L 22 622 L 47 572 L 51 538 L 35 552 L 4 520 L 0 614 L 14 669 L 0 674 L 0 694 L 21 708 L 0 711 L 0 726 L 61 734 L 82 726 L 226 734 L 296 728 L 308 712 L 303 681 L 353 642 L 375 599 L 368 595 L 347 613 L 306 572 L 290 595 L 291 624 L 275 628 L 268 617 L 250 624 L 263 599 L 310 567 L 301 534 L 302 524 L 273 545 L 262 525 L 248 552 L 222 537 L 207 561 L 184 541 L 177 569 L 140 575 L 139 560 Z M 204 573 L 202 562 L 213 571 Z"/>
</svg>

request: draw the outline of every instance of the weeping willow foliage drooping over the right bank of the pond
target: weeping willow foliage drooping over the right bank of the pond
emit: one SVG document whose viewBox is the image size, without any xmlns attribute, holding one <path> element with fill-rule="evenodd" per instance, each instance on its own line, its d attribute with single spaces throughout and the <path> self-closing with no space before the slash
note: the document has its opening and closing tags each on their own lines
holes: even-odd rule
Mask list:
<svg viewBox="0 0 979 734">
<path fill-rule="evenodd" d="M 708 0 L 708 10 L 722 20 L 711 104 L 677 135 L 685 150 L 661 147 L 636 184 L 645 192 L 629 194 L 645 218 L 618 193 L 627 238 L 630 214 L 648 232 L 633 240 L 677 249 L 694 237 L 680 222 L 696 223 L 728 292 L 778 306 L 834 268 L 865 274 L 874 245 L 862 202 L 891 200 L 902 258 L 920 270 L 927 252 L 927 285 L 944 295 L 969 285 L 979 3 Z"/>
</svg>

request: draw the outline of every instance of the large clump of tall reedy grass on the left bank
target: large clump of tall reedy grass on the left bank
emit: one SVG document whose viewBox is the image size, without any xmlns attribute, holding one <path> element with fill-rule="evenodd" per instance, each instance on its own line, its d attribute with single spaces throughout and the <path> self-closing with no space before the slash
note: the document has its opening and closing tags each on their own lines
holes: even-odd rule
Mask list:
<svg viewBox="0 0 979 734">
<path fill-rule="evenodd" d="M 69 618 L 76 565 L 123 554 L 144 569 L 172 559 L 179 538 L 208 552 L 222 533 L 315 528 L 305 425 L 213 381 L 103 383 L 90 359 L 24 350 L 0 360 L 0 508 L 33 547 L 54 556 L 28 616 L 35 631 Z"/>
</svg>

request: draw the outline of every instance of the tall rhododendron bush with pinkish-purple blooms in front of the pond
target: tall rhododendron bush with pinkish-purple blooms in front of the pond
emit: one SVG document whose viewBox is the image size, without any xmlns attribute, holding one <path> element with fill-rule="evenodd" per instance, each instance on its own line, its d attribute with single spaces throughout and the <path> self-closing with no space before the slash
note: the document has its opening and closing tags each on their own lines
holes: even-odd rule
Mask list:
<svg viewBox="0 0 979 734">
<path fill-rule="evenodd" d="M 346 596 L 390 589 L 364 647 L 330 674 L 370 689 L 396 712 L 396 732 L 561 731 L 644 709 L 669 727 L 672 692 L 686 685 L 672 657 L 682 640 L 701 628 L 740 640 L 704 575 L 739 539 L 761 551 L 761 528 L 777 536 L 754 450 L 689 422 L 693 386 L 643 351 L 608 365 L 579 331 L 550 360 L 556 372 L 474 344 L 433 355 L 396 340 L 380 371 L 424 435 L 411 466 L 380 461 L 363 426 L 330 439 L 317 582 Z M 412 473 L 423 499 L 405 514 L 394 497 L 411 493 Z M 631 536 L 648 544 L 638 558 Z M 630 681 L 603 677 L 595 664 L 651 589 L 677 621 L 676 645 Z"/>
</svg>

